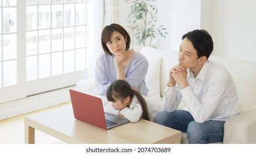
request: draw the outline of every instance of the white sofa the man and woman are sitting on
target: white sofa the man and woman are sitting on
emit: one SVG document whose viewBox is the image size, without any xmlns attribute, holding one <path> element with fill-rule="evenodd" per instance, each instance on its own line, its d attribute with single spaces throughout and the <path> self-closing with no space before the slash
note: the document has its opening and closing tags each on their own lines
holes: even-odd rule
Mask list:
<svg viewBox="0 0 256 155">
<path fill-rule="evenodd" d="M 168 71 L 177 64 L 177 52 L 144 47 L 141 53 L 149 60 L 146 82 L 150 91 L 146 101 L 154 117 L 163 110 L 161 97 L 168 80 Z M 240 113 L 226 121 L 223 143 L 256 143 L 256 63 L 212 55 L 209 59 L 229 70 L 238 91 Z M 93 77 L 79 81 L 76 89 L 98 96 Z M 181 143 L 187 143 L 186 133 L 182 133 Z"/>
</svg>

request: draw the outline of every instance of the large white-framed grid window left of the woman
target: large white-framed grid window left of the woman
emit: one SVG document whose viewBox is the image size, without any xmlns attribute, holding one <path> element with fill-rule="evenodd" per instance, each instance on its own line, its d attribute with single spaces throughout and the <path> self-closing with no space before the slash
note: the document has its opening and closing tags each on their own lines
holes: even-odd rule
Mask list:
<svg viewBox="0 0 256 155">
<path fill-rule="evenodd" d="M 0 2 L 0 103 L 86 78 L 93 1 Z"/>
</svg>

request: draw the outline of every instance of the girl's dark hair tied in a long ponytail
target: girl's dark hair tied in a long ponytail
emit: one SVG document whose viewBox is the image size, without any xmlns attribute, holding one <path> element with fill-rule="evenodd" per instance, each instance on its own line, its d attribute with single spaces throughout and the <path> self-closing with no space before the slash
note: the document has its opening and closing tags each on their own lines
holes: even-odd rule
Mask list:
<svg viewBox="0 0 256 155">
<path fill-rule="evenodd" d="M 149 110 L 147 109 L 147 104 L 144 98 L 140 95 L 139 92 L 133 90 L 128 82 L 125 80 L 115 80 L 107 88 L 106 97 L 110 102 L 114 102 L 114 99 L 119 99 L 123 101 L 126 97 L 130 96 L 131 98 L 137 97 L 142 108 L 142 118 L 150 121 Z"/>
</svg>

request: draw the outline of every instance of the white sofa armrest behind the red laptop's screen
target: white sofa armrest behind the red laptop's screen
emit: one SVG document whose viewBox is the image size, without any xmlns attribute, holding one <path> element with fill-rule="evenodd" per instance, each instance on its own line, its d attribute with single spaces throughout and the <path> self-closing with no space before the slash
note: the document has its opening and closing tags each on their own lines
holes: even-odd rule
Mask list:
<svg viewBox="0 0 256 155">
<path fill-rule="evenodd" d="M 95 86 L 95 78 L 90 77 L 89 79 L 81 80 L 76 83 L 76 90 L 90 94 L 93 96 L 98 96 Z"/>
</svg>

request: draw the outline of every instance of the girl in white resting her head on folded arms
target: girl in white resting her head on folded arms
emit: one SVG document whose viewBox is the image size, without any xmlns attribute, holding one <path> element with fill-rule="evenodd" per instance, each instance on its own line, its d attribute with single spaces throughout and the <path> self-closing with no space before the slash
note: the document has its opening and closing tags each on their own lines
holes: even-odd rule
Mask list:
<svg viewBox="0 0 256 155">
<path fill-rule="evenodd" d="M 140 118 L 150 120 L 146 101 L 125 80 L 112 82 L 107 89 L 106 97 L 110 102 L 104 106 L 105 112 L 125 117 L 130 122 L 137 122 Z"/>
</svg>

